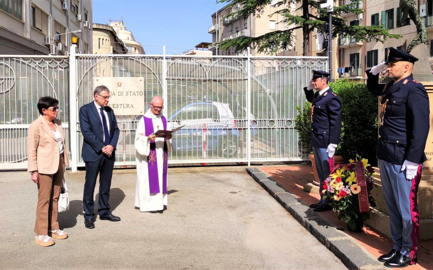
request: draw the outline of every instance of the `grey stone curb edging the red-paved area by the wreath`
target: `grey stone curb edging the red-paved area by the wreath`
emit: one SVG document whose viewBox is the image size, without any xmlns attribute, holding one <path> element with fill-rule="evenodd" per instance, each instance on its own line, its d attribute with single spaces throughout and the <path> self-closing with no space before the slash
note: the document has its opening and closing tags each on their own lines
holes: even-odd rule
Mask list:
<svg viewBox="0 0 433 270">
<path fill-rule="evenodd" d="M 326 223 L 310 207 L 302 204 L 297 197 L 285 191 L 260 168 L 247 168 L 246 171 L 272 197 L 277 200 L 302 226 L 326 246 L 350 270 L 386 269 L 373 258 L 351 236 Z"/>
</svg>

